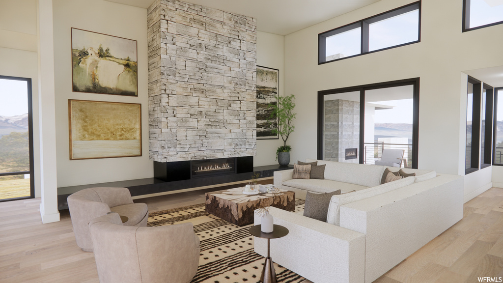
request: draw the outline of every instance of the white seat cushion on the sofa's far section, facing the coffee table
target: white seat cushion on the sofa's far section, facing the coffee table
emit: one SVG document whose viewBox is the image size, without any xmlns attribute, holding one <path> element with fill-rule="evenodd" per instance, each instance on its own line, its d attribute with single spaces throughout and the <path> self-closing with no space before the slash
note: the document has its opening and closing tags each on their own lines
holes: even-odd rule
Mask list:
<svg viewBox="0 0 503 283">
<path fill-rule="evenodd" d="M 352 190 L 362 190 L 366 189 L 366 186 L 343 183 L 338 181 L 332 181 L 327 179 L 291 179 L 284 181 L 282 183 L 285 186 L 294 187 L 298 189 L 304 189 L 306 191 L 325 193 L 332 192 L 341 189 L 341 193 L 349 192 Z"/>
</svg>

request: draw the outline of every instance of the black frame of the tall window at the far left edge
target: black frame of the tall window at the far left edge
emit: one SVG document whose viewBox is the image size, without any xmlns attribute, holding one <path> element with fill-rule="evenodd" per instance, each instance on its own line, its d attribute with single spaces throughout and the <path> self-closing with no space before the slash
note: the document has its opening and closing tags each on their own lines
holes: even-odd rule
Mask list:
<svg viewBox="0 0 503 283">
<path fill-rule="evenodd" d="M 35 197 L 35 164 L 33 159 L 33 103 L 32 103 L 32 81 L 30 78 L 22 78 L 22 77 L 11 77 L 11 76 L 2 76 L 0 75 L 0 79 L 5 80 L 13 80 L 13 81 L 24 81 L 27 83 L 27 95 L 28 95 L 28 148 L 30 154 L 30 171 L 23 172 L 9 172 L 9 173 L 0 173 L 0 176 L 12 176 L 12 175 L 22 175 L 22 174 L 30 174 L 30 196 L 23 197 L 14 197 L 14 198 L 4 198 L 0 199 L 0 202 L 11 201 L 11 200 L 19 200 L 19 199 L 28 199 Z"/>
</svg>

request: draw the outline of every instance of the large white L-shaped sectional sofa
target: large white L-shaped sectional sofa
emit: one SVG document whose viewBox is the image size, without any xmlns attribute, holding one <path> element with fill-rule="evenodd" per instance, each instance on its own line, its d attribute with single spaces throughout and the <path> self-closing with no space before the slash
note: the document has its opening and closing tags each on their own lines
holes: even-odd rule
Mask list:
<svg viewBox="0 0 503 283">
<path fill-rule="evenodd" d="M 331 197 L 327 223 L 270 207 L 274 223 L 289 230 L 271 240 L 273 261 L 315 283 L 370 283 L 463 217 L 460 176 L 408 169 L 416 176 L 380 185 L 384 166 L 322 164 L 325 180 L 293 180 L 286 170 L 275 172 L 274 184 L 296 197 L 356 190 Z M 255 238 L 255 251 L 267 256 L 267 240 Z"/>
</svg>

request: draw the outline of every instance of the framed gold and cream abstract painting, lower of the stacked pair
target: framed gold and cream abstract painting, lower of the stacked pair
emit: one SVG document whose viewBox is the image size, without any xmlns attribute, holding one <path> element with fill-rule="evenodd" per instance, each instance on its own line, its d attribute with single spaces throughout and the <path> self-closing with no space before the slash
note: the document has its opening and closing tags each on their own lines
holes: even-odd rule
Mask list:
<svg viewBox="0 0 503 283">
<path fill-rule="evenodd" d="M 141 104 L 68 100 L 70 160 L 141 156 Z"/>
</svg>

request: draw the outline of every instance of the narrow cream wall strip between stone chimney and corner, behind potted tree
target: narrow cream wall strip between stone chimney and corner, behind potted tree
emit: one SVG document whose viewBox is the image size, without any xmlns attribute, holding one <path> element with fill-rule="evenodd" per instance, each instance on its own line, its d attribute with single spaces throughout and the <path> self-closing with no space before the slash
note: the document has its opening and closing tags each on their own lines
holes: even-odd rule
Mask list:
<svg viewBox="0 0 503 283">
<path fill-rule="evenodd" d="M 281 96 L 285 95 L 284 38 L 282 35 L 257 32 L 257 65 L 280 70 L 279 95 Z M 300 108 L 300 106 L 296 108 Z M 287 144 L 291 145 L 290 142 L 289 138 Z M 257 139 L 257 155 L 254 157 L 254 166 L 278 164 L 276 150 L 282 145 L 281 137 L 279 139 Z M 293 159 L 290 163 L 293 164 Z"/>
</svg>

